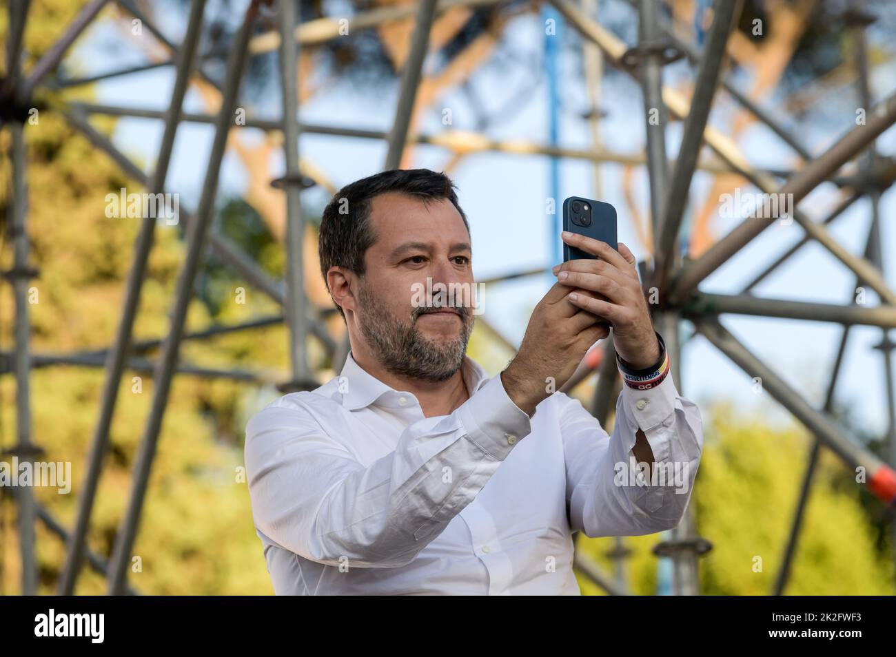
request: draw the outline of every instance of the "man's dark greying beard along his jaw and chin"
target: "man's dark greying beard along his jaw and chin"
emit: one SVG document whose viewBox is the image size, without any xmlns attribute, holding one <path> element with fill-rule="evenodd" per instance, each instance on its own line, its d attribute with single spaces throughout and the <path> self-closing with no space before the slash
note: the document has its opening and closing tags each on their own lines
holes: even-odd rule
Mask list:
<svg viewBox="0 0 896 657">
<path fill-rule="evenodd" d="M 437 309 L 413 308 L 410 324 L 405 324 L 389 314 L 363 283 L 358 287 L 358 303 L 363 313 L 359 322 L 361 335 L 387 371 L 410 379 L 439 382 L 451 379 L 461 369 L 473 330 L 470 308 L 453 309 L 460 312 L 463 328 L 457 338 L 440 344 L 424 337 L 417 328 L 418 317 Z"/>
</svg>

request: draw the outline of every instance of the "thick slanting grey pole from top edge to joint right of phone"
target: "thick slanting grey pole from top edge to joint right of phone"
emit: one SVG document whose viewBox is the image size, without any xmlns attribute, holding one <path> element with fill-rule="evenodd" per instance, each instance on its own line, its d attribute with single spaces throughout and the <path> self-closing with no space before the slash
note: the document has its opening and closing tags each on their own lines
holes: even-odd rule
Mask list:
<svg viewBox="0 0 896 657">
<path fill-rule="evenodd" d="M 694 177 L 697 158 L 703 146 L 703 132 L 710 116 L 712 98 L 716 93 L 719 73 L 725 59 L 728 35 L 737 21 L 742 3 L 732 0 L 715 0 L 712 4 L 712 27 L 703 48 L 697 79 L 694 81 L 694 98 L 691 111 L 685 119 L 685 133 L 678 158 L 666 191 L 664 214 L 655 239 L 654 285 L 665 291 L 669 270 L 675 260 L 678 229 L 685 216 L 688 188 Z M 736 13 L 737 9 L 737 13 Z"/>
</svg>

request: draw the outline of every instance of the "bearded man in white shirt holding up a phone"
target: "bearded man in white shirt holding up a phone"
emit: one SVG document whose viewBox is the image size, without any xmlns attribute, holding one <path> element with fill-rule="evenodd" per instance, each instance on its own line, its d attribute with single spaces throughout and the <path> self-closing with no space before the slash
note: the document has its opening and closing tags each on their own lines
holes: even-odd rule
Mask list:
<svg viewBox="0 0 896 657">
<path fill-rule="evenodd" d="M 702 451 L 700 413 L 668 375 L 632 253 L 564 240 L 600 260 L 554 269 L 519 353 L 489 379 L 465 355 L 474 309 L 433 303 L 436 294 L 419 303 L 427 278 L 430 292 L 473 285 L 452 181 L 385 171 L 337 192 L 320 257 L 349 331 L 345 367 L 246 428 L 276 593 L 579 594 L 574 532 L 677 525 Z M 607 323 L 626 384 L 612 437 L 554 392 Z"/>
</svg>

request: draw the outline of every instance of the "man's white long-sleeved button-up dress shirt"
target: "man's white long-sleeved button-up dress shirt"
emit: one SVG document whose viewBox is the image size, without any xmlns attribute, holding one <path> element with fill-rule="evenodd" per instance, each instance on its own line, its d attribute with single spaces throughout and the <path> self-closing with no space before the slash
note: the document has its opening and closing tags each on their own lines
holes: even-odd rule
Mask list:
<svg viewBox="0 0 896 657">
<path fill-rule="evenodd" d="M 469 356 L 461 371 L 470 399 L 448 415 L 425 417 L 351 354 L 340 377 L 254 414 L 246 474 L 275 593 L 577 595 L 573 532 L 677 525 L 702 420 L 671 376 L 623 386 L 610 437 L 573 397 L 555 393 L 530 418 L 500 376 Z M 654 468 L 687 471 L 685 492 L 617 485 L 638 427 Z"/>
</svg>

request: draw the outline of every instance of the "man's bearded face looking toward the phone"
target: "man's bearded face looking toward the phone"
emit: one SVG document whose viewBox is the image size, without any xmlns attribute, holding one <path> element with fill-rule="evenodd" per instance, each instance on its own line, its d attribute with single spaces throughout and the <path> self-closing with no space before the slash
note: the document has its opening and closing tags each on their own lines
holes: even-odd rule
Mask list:
<svg viewBox="0 0 896 657">
<path fill-rule="evenodd" d="M 461 298 L 453 307 L 435 305 L 427 290 L 437 293 L 437 284 L 448 289 L 461 284 L 467 293 L 462 298 L 468 303 L 472 298 L 470 235 L 461 214 L 447 199 L 425 205 L 388 193 L 372 201 L 371 220 L 376 239 L 365 253 L 365 274 L 358 282 L 361 334 L 388 371 L 449 379 L 466 354 L 473 309 L 457 305 Z"/>
</svg>

